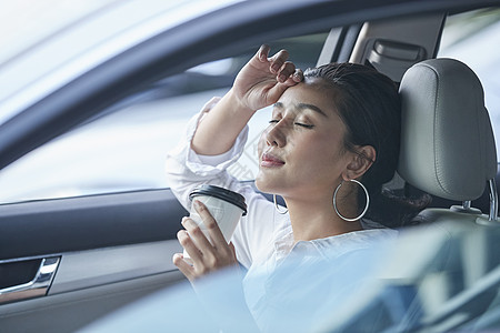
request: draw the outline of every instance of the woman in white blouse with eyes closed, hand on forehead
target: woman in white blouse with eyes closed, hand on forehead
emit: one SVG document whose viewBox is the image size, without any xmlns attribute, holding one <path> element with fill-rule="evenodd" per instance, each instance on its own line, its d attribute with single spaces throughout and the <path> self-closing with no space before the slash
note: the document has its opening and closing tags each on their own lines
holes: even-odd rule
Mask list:
<svg viewBox="0 0 500 333">
<path fill-rule="evenodd" d="M 379 236 L 393 236 L 389 228 L 402 225 L 420 209 L 382 193 L 399 154 L 400 101 L 393 82 L 357 64 L 329 64 L 302 74 L 287 61 L 287 51 L 268 58 L 269 51 L 262 46 L 232 89 L 191 121 L 187 140 L 167 164 L 169 183 L 184 206 L 200 183 L 246 196 L 249 212 L 230 244 L 194 201 L 212 243 L 184 218 L 186 230 L 178 239 L 193 264 L 182 254 L 176 254 L 173 263 L 192 281 L 240 262 L 249 269 L 243 287 L 257 316 L 264 315 L 262 304 L 269 302 L 262 302 L 266 291 L 254 292 L 266 281 L 248 282 L 256 272 L 264 270 L 269 276 L 290 256 L 333 260 L 367 249 Z M 270 124 L 259 142 L 256 185 L 283 196 L 288 212 L 226 171 L 241 154 L 247 122 L 272 104 Z"/>
</svg>

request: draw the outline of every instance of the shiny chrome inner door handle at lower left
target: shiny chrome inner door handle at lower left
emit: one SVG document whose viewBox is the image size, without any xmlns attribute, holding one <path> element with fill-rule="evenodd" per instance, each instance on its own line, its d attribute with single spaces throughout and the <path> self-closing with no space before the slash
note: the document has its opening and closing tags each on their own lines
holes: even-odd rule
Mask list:
<svg viewBox="0 0 500 333">
<path fill-rule="evenodd" d="M 46 295 L 59 263 L 59 256 L 42 259 L 37 274 L 30 282 L 0 290 L 0 304 Z"/>
</svg>

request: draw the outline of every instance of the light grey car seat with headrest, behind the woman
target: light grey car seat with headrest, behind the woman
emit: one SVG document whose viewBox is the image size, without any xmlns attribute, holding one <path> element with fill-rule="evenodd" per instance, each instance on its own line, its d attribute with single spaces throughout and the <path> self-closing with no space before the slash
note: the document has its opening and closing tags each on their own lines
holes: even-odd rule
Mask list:
<svg viewBox="0 0 500 333">
<path fill-rule="evenodd" d="M 407 276 L 418 287 L 421 303 L 434 304 L 427 304 L 417 327 L 452 330 L 480 317 L 500 286 L 494 137 L 482 85 L 458 60 L 431 59 L 414 64 L 403 75 L 400 94 L 398 173 L 429 194 L 463 202 L 419 214 L 427 233 L 413 238 L 422 246 L 412 250 L 432 250 L 426 249 L 429 251 L 420 255 L 420 269 L 413 268 L 413 275 Z M 484 190 L 490 193 L 487 214 L 471 208 L 471 201 Z M 429 295 L 432 302 L 426 301 Z M 454 326 L 440 326 L 457 313 L 463 315 Z"/>
</svg>

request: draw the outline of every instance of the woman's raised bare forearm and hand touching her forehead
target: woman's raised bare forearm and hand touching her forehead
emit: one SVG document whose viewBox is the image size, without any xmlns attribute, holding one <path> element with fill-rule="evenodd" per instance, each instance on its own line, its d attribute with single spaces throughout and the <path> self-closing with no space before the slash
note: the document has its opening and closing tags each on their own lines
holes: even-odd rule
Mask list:
<svg viewBox="0 0 500 333">
<path fill-rule="evenodd" d="M 191 141 L 194 152 L 227 152 L 257 110 L 274 104 L 289 87 L 302 81 L 302 72 L 287 61 L 287 51 L 268 56 L 269 47 L 260 47 L 238 73 L 231 90 L 207 112 Z"/>
</svg>

